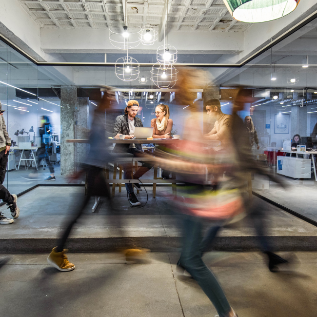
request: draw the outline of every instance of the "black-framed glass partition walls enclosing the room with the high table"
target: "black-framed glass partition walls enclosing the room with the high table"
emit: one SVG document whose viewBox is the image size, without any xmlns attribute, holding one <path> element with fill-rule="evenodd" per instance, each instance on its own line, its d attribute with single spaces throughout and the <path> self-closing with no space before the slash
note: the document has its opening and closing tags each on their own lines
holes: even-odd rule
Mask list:
<svg viewBox="0 0 317 317">
<path fill-rule="evenodd" d="M 226 114 L 232 111 L 232 98 L 226 92 L 228 88 L 244 85 L 252 91 L 253 103 L 246 105 L 239 115 L 242 119 L 251 116 L 257 131 L 253 156 L 261 161 L 263 168 L 288 185 L 281 189 L 267 178 L 255 175 L 253 192 L 315 221 L 316 37 L 317 21 L 313 20 L 243 67 L 204 68 L 209 74 L 208 86 L 219 88 L 221 110 Z M 91 128 L 93 111 L 101 99 L 100 88 L 104 86 L 118 90 L 118 101 L 113 112 L 106 114 L 108 119 L 114 120 L 122 114 L 128 99 L 137 99 L 140 103 L 138 116 L 144 126 L 150 126 L 151 119 L 155 118 L 156 105 L 163 102 L 170 106 L 173 133 L 181 135 L 188 109 L 175 103 L 177 92 L 155 89 L 157 87 L 149 79 L 150 68 L 141 67 L 140 71 L 148 78 L 145 85 L 139 80 L 119 80 L 114 67 L 36 66 L 0 42 L 0 100 L 2 109 L 6 110 L 4 116 L 9 136 L 13 144 L 19 144 L 19 148 L 12 147 L 10 152 L 6 177 L 9 190 L 20 193 L 36 184 L 46 183 L 44 178 L 50 175 L 48 166 L 43 166 L 38 155 L 39 128 L 43 118 L 50 122 L 51 134 L 47 142 L 54 142 L 57 148 L 56 156 L 51 157 L 55 184 L 65 183 L 60 170 L 61 137 L 65 127 L 64 108 L 61 107 L 67 106 L 61 100 L 63 87 L 76 86 L 76 97 L 87 106 L 87 122 L 81 127 L 86 134 L 82 132 L 81 136 L 87 136 Z M 142 91 L 144 87 L 146 89 Z M 197 87 L 194 94 L 203 98 L 205 91 L 206 86 Z M 204 129 L 208 130 L 208 127 Z M 27 149 L 27 144 L 21 143 L 29 143 L 33 148 Z M 30 179 L 32 173 L 37 173 L 38 177 Z"/>
</svg>

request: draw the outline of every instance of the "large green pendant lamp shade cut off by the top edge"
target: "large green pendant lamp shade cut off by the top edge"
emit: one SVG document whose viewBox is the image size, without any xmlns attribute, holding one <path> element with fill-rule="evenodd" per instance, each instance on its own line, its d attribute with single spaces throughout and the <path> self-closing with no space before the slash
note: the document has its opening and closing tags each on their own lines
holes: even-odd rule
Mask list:
<svg viewBox="0 0 317 317">
<path fill-rule="evenodd" d="M 259 23 L 272 21 L 294 11 L 299 0 L 223 0 L 234 19 Z"/>
</svg>

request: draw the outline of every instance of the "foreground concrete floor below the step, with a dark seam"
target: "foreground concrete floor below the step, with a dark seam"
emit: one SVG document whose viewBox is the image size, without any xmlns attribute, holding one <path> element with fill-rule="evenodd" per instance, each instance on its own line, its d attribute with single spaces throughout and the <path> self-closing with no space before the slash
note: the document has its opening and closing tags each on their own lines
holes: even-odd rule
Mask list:
<svg viewBox="0 0 317 317">
<path fill-rule="evenodd" d="M 285 256 L 285 254 L 280 254 Z M 214 317 L 198 284 L 178 275 L 178 253 L 149 253 L 126 265 L 119 254 L 69 254 L 61 273 L 47 255 L 11 255 L 0 269 L 3 317 Z M 296 252 L 271 273 L 259 253 L 213 252 L 204 260 L 239 317 L 315 317 L 317 252 Z M 300 264 L 299 264 L 300 263 Z"/>
</svg>

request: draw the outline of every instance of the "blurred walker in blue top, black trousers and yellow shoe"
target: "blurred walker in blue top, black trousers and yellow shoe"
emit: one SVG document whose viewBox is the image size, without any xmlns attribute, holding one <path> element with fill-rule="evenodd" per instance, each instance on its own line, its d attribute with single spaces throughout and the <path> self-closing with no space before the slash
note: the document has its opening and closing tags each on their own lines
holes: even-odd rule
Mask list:
<svg viewBox="0 0 317 317">
<path fill-rule="evenodd" d="M 110 210 L 112 210 L 111 196 L 109 193 L 109 186 L 105 182 L 103 176 L 103 167 L 111 161 L 111 154 L 109 153 L 109 141 L 105 138 L 105 109 L 109 107 L 111 95 L 104 93 L 101 103 L 95 110 L 94 119 L 92 123 L 92 131 L 89 136 L 89 154 L 87 155 L 81 170 L 76 173 L 70 180 L 78 179 L 81 175 L 86 174 L 87 180 L 87 195 L 83 198 L 78 212 L 67 223 L 66 230 L 63 232 L 59 244 L 53 248 L 52 252 L 47 258 L 47 262 L 57 268 L 59 271 L 72 271 L 75 269 L 75 264 L 68 261 L 64 249 L 66 240 L 71 233 L 71 230 L 81 216 L 83 210 L 87 206 L 92 196 L 106 197 L 109 201 Z"/>
</svg>

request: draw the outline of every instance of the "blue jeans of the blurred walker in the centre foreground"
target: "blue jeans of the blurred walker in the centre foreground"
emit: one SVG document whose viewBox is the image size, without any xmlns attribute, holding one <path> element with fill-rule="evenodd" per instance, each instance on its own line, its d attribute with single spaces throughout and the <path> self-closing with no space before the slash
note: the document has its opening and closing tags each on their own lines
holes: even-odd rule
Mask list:
<svg viewBox="0 0 317 317">
<path fill-rule="evenodd" d="M 216 277 L 201 259 L 201 219 L 184 215 L 183 230 L 183 249 L 179 262 L 198 282 L 215 306 L 219 317 L 225 317 L 231 310 L 230 304 Z"/>
</svg>

